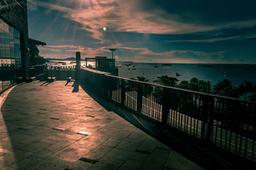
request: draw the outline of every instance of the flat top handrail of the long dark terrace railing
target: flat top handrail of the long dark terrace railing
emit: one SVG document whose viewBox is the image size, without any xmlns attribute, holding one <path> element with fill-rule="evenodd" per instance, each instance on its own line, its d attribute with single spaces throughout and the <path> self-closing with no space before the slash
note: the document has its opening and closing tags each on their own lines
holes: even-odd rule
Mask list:
<svg viewBox="0 0 256 170">
<path fill-rule="evenodd" d="M 215 94 L 207 94 L 207 93 L 204 93 L 204 92 L 196 92 L 196 91 L 193 91 L 193 90 L 180 89 L 180 88 L 177 88 L 177 87 L 169 87 L 169 86 L 165 86 L 165 85 L 157 85 L 156 83 L 148 83 L 148 82 L 145 82 L 145 81 L 132 80 L 130 78 L 123 78 L 123 77 L 119 77 L 119 76 L 113 76 L 111 74 L 106 74 L 106 76 L 111 76 L 113 78 L 119 78 L 119 79 L 122 79 L 122 80 L 134 81 L 134 82 L 141 83 L 141 84 L 154 85 L 154 86 L 163 87 L 163 88 L 166 88 L 166 89 L 180 90 L 182 92 L 189 92 L 189 93 L 198 94 L 198 95 L 202 95 L 202 96 L 216 97 L 218 99 L 228 99 L 228 100 L 234 100 L 234 101 L 237 101 L 237 102 L 256 104 L 255 101 L 246 101 L 246 100 L 237 99 L 237 98 L 234 98 L 234 97 L 218 96 L 218 95 L 215 95 Z"/>
</svg>

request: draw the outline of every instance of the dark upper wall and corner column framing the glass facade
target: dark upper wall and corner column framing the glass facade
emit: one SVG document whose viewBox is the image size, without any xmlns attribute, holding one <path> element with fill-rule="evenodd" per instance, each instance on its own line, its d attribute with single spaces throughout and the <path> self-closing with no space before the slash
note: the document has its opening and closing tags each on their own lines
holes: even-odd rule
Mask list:
<svg viewBox="0 0 256 170">
<path fill-rule="evenodd" d="M 20 31 L 20 52 L 22 60 L 22 76 L 28 77 L 28 14 L 26 0 L 0 0 L 0 18 L 6 24 Z"/>
</svg>

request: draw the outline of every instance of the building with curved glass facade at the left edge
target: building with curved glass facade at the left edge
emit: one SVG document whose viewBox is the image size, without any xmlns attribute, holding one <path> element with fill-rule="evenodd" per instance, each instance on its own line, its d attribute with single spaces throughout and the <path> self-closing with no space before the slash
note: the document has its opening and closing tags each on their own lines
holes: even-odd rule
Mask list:
<svg viewBox="0 0 256 170">
<path fill-rule="evenodd" d="M 26 0 L 0 0 L 0 93 L 29 71 Z"/>
</svg>

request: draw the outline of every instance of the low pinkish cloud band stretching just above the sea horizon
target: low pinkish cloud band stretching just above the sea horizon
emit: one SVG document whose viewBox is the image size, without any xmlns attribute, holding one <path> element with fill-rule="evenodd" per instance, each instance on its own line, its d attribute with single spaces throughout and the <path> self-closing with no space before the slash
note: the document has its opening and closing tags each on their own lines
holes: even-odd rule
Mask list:
<svg viewBox="0 0 256 170">
<path fill-rule="evenodd" d="M 192 50 L 171 50 L 166 52 L 153 52 L 148 48 L 122 46 L 102 46 L 89 48 L 74 45 L 43 46 L 40 47 L 40 55 L 46 58 L 74 57 L 76 52 L 81 52 L 82 57 L 108 56 L 109 48 L 116 48 L 116 52 L 125 53 L 120 60 L 131 60 L 131 56 L 137 61 L 148 62 L 149 59 L 157 59 L 157 62 L 225 62 L 236 61 L 232 58 L 232 52 L 198 52 Z"/>
</svg>

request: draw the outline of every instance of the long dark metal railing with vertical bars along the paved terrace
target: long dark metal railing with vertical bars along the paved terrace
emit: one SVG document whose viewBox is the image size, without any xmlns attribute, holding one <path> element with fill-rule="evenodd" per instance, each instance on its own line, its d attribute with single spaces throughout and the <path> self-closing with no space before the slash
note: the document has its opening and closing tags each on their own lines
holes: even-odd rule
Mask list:
<svg viewBox="0 0 256 170">
<path fill-rule="evenodd" d="M 256 162 L 255 102 L 110 74 L 90 75 L 93 78 L 88 78 L 86 84 L 98 94 L 193 138 Z"/>
</svg>

